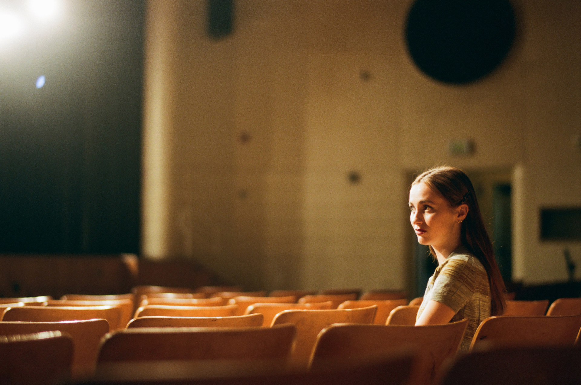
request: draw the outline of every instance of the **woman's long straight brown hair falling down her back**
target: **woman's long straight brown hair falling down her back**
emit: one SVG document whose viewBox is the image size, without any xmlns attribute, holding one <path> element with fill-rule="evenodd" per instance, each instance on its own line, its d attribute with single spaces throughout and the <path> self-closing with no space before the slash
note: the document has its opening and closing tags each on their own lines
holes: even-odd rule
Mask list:
<svg viewBox="0 0 581 385">
<path fill-rule="evenodd" d="M 488 274 L 490 283 L 490 315 L 501 315 L 506 303 L 504 293 L 506 288 L 500 275 L 500 270 L 494 260 L 492 242 L 482 220 L 476 193 L 472 182 L 462 170 L 454 167 L 435 167 L 422 172 L 411 184 L 425 183 L 433 191 L 437 191 L 446 199 L 452 207 L 460 204 L 468 205 L 468 214 L 462 221 L 461 242 L 482 263 Z M 430 253 L 435 258 L 436 253 L 430 246 Z"/>
</svg>

